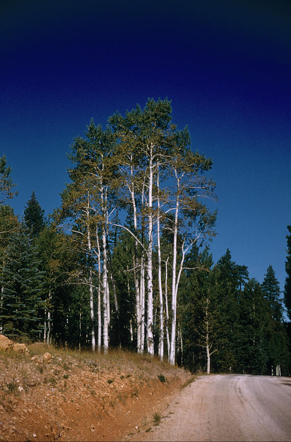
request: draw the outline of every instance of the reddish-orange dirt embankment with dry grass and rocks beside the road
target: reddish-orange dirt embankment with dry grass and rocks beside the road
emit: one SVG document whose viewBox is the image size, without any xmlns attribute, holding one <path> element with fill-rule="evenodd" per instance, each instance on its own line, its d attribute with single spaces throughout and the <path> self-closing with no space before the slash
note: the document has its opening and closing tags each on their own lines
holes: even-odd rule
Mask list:
<svg viewBox="0 0 291 442">
<path fill-rule="evenodd" d="M 191 379 L 148 356 L 28 350 L 0 355 L 0 441 L 120 441 Z"/>
</svg>

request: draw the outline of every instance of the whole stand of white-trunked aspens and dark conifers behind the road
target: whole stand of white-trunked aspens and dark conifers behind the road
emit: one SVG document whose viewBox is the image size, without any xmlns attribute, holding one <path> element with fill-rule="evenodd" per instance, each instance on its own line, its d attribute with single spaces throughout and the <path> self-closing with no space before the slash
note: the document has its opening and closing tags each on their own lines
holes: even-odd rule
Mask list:
<svg viewBox="0 0 291 442">
<path fill-rule="evenodd" d="M 0 333 L 192 372 L 290 374 L 291 225 L 283 296 L 271 263 L 259 283 L 229 249 L 213 262 L 212 160 L 170 101 L 116 112 L 105 130 L 91 119 L 69 159 L 60 207 L 45 214 L 31 190 L 22 218 L 0 159 Z"/>
</svg>

